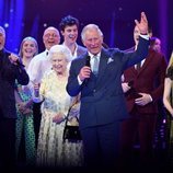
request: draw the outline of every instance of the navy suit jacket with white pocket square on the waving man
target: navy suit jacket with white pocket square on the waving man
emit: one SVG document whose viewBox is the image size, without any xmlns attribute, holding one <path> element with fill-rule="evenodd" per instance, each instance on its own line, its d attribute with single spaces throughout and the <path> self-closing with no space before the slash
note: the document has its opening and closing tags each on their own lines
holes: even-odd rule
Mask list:
<svg viewBox="0 0 173 173">
<path fill-rule="evenodd" d="M 78 82 L 78 74 L 85 66 L 88 55 L 72 61 L 67 92 L 71 96 L 81 92 L 80 128 L 109 124 L 128 116 L 122 90 L 122 73 L 148 55 L 148 44 L 147 39 L 140 38 L 137 51 L 130 54 L 118 49 L 102 49 L 97 78 L 92 73 L 82 85 Z"/>
</svg>

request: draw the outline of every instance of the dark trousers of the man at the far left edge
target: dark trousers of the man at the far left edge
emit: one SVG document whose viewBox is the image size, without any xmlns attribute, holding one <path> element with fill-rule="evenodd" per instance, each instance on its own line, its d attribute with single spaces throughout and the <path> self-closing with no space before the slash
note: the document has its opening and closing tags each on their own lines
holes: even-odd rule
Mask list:
<svg viewBox="0 0 173 173">
<path fill-rule="evenodd" d="M 0 166 L 15 166 L 15 119 L 0 118 Z"/>
</svg>

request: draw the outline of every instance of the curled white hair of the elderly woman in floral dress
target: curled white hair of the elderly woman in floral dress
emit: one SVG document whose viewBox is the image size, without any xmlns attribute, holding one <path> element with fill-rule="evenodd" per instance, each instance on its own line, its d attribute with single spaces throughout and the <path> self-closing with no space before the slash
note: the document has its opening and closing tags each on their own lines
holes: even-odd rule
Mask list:
<svg viewBox="0 0 173 173">
<path fill-rule="evenodd" d="M 53 54 L 62 54 L 68 62 L 72 60 L 70 50 L 64 45 L 55 45 L 48 51 L 48 57 L 51 60 Z"/>
</svg>

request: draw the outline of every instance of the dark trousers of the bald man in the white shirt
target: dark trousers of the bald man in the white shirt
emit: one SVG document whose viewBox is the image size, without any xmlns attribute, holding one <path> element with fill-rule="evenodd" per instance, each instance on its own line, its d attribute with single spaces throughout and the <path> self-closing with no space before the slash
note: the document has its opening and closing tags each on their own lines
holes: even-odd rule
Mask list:
<svg viewBox="0 0 173 173">
<path fill-rule="evenodd" d="M 41 118 L 42 118 L 41 104 L 42 103 L 33 104 L 34 131 L 35 131 L 35 146 L 36 147 L 37 147 L 37 142 L 38 142 L 39 126 L 41 126 Z"/>
</svg>

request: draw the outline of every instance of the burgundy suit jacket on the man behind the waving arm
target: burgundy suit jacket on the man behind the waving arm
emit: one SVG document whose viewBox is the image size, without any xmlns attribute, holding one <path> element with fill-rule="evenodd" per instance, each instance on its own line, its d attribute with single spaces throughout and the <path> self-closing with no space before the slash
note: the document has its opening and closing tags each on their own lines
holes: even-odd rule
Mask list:
<svg viewBox="0 0 173 173">
<path fill-rule="evenodd" d="M 136 108 L 139 113 L 158 113 L 157 101 L 163 95 L 165 69 L 166 61 L 164 56 L 150 49 L 149 55 L 147 56 L 145 64 L 140 68 L 139 72 L 137 72 L 135 66 L 125 70 L 125 82 L 129 82 L 132 80 L 132 88 L 136 92 L 149 93 L 152 96 L 153 102 L 147 104 L 146 106 L 136 105 Z M 132 96 L 134 89 L 125 94 L 129 113 L 135 106 L 135 97 Z"/>
</svg>

